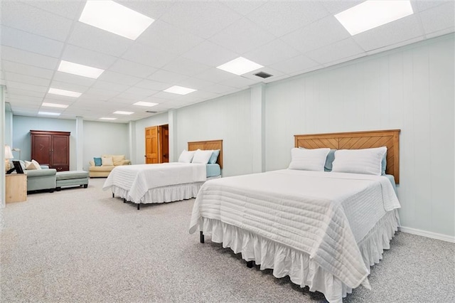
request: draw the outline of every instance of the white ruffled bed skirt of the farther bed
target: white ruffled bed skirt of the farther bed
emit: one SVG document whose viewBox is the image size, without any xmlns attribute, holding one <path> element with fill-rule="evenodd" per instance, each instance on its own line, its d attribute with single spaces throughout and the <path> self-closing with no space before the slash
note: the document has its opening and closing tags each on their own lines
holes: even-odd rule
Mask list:
<svg viewBox="0 0 455 303">
<path fill-rule="evenodd" d="M 220 178 L 220 176 L 211 177 L 208 178 L 208 180 L 218 178 Z M 203 184 L 204 182 L 195 182 L 151 188 L 146 192 L 144 197 L 141 198 L 141 203 L 166 203 L 196 198 L 200 186 Z M 112 193 L 114 193 L 114 196 L 119 196 L 120 198 L 128 200 L 128 191 L 126 189 L 118 186 L 111 186 L 111 190 Z"/>
</svg>

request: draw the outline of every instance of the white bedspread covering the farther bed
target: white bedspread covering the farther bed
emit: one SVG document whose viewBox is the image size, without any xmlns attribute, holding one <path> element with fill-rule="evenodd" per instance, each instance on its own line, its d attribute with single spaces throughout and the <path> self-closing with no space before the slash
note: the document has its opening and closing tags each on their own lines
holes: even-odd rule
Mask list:
<svg viewBox="0 0 455 303">
<path fill-rule="evenodd" d="M 205 164 L 179 162 L 122 165 L 112 169 L 103 190 L 117 186 L 128 191 L 127 200 L 142 203 L 151 188 L 205 181 Z"/>
</svg>

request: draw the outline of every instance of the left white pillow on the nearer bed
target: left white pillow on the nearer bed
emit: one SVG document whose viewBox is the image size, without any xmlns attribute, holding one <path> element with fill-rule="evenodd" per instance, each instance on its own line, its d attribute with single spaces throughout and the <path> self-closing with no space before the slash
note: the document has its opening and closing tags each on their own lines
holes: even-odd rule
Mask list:
<svg viewBox="0 0 455 303">
<path fill-rule="evenodd" d="M 326 157 L 330 149 L 291 149 L 289 169 L 304 171 L 324 171 Z"/>
</svg>

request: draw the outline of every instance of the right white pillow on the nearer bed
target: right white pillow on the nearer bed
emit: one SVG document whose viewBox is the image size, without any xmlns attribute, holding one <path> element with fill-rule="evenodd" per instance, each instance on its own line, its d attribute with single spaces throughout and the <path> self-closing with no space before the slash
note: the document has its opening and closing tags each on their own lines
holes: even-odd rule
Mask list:
<svg viewBox="0 0 455 303">
<path fill-rule="evenodd" d="M 387 147 L 337 150 L 332 171 L 380 176 L 382 156 L 386 152 Z"/>
</svg>

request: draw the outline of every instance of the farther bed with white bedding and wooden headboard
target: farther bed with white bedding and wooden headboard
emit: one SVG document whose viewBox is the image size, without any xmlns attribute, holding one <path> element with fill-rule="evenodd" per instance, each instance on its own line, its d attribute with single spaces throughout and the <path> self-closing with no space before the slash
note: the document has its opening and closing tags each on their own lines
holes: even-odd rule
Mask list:
<svg viewBox="0 0 455 303">
<path fill-rule="evenodd" d="M 200 186 L 210 179 L 221 177 L 223 167 L 223 140 L 188 142 L 187 154 L 196 151 L 214 153 L 213 163 L 171 162 L 118 166 L 107 177 L 103 190 L 111 190 L 112 197 L 137 204 L 165 203 L 196 197 Z M 182 153 L 183 154 L 183 153 Z M 207 154 L 207 153 L 206 153 Z M 186 161 L 186 160 L 185 160 Z"/>
</svg>

